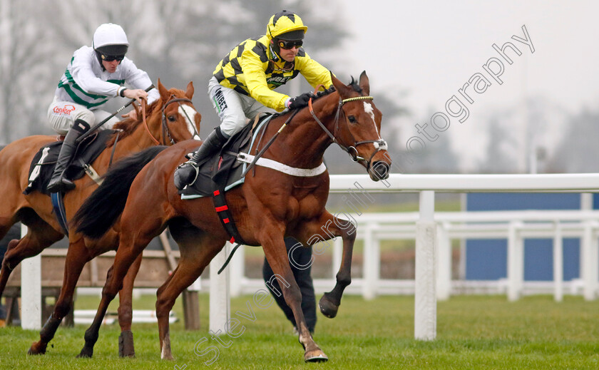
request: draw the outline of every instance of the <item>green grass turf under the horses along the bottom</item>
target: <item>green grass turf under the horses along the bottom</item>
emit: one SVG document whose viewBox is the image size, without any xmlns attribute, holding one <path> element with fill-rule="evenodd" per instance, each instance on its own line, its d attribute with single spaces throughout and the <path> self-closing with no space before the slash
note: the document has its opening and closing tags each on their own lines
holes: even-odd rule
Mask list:
<svg viewBox="0 0 599 370">
<path fill-rule="evenodd" d="M 154 297 L 136 300 L 135 309 L 150 309 Z M 254 322 L 237 311 L 256 315 Z M 96 308 L 97 297 L 79 297 L 78 309 Z M 116 304 L 110 310 L 115 310 Z M 183 317 L 180 301 L 175 305 Z M 44 356 L 27 356 L 39 333 L 0 329 L 0 369 L 598 369 L 599 302 L 580 297 L 524 297 L 507 302 L 503 296 L 461 296 L 437 307 L 437 339 L 414 340 L 414 299 L 379 297 L 364 301 L 344 297 L 339 315 L 319 314 L 314 339 L 329 356 L 324 364 L 304 364 L 303 350 L 291 325 L 272 304 L 259 309 L 251 296 L 232 299 L 232 317 L 245 327 L 237 338 L 217 344 L 208 333 L 208 296 L 200 295 L 203 329 L 188 332 L 183 323 L 171 325 L 175 361 L 160 360 L 155 324 L 134 324 L 135 359 L 119 359 L 118 325 L 103 326 L 92 359 L 76 359 L 85 326 L 59 328 Z M 238 328 L 239 329 L 239 328 Z M 215 352 L 198 356 L 210 345 Z"/>
</svg>

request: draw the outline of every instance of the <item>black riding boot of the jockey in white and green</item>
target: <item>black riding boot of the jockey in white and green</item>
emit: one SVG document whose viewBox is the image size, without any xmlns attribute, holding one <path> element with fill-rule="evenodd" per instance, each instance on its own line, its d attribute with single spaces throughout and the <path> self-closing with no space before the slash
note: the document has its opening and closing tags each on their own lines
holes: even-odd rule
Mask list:
<svg viewBox="0 0 599 370">
<path fill-rule="evenodd" d="M 83 135 L 83 133 L 86 133 L 87 130 L 89 130 L 89 125 L 86 121 L 75 120 L 75 124 L 71 130 L 68 130 L 68 133 L 66 133 L 61 152 L 58 153 L 54 173 L 48 183 L 48 187 L 46 187 L 48 192 L 66 192 L 75 188 L 75 184 L 64 177 L 64 172 L 68 167 L 68 164 L 71 163 L 71 156 L 77 148 L 75 143 L 76 140 L 79 136 Z"/>
</svg>

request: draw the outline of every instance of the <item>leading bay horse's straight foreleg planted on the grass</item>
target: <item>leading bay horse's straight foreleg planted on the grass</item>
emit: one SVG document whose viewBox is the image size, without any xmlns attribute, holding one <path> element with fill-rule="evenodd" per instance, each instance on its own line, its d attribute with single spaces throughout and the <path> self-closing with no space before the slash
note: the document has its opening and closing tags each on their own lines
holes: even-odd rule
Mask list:
<svg viewBox="0 0 599 370">
<path fill-rule="evenodd" d="M 279 286 L 282 289 L 285 303 L 293 311 L 295 317 L 295 323 L 297 324 L 297 331 L 299 332 L 299 343 L 304 346 L 304 361 L 327 361 L 328 357 L 322 349 L 312 339 L 306 320 L 304 319 L 304 313 L 302 312 L 302 293 L 299 291 L 293 272 L 289 265 L 289 259 L 287 257 L 287 250 L 285 249 L 285 241 L 282 235 L 275 235 L 270 232 L 272 228 L 269 228 L 266 237 L 259 238 L 262 242 L 262 248 L 264 249 L 266 259 L 270 267 L 272 267 L 272 275 L 267 284 L 272 284 L 275 279 L 279 282 Z M 275 287 L 270 286 L 272 292 L 275 294 L 281 294 Z"/>
</svg>

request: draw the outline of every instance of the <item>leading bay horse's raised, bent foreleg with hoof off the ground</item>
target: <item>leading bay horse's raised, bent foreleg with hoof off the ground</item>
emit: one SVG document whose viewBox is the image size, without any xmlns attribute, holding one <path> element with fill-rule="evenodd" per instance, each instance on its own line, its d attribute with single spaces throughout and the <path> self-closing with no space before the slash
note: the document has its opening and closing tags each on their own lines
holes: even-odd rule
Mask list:
<svg viewBox="0 0 599 370">
<path fill-rule="evenodd" d="M 341 266 L 337 272 L 337 282 L 331 292 L 324 293 L 319 301 L 320 312 L 324 316 L 333 318 L 337 316 L 341 297 L 345 287 L 352 282 L 352 254 L 356 240 L 356 226 L 347 220 L 334 217 L 329 212 L 324 213 L 321 220 L 312 222 L 304 227 L 304 237 L 313 244 L 314 242 L 329 240 L 332 237 L 342 237 L 343 253 Z M 315 254 L 318 254 L 316 251 Z"/>
</svg>

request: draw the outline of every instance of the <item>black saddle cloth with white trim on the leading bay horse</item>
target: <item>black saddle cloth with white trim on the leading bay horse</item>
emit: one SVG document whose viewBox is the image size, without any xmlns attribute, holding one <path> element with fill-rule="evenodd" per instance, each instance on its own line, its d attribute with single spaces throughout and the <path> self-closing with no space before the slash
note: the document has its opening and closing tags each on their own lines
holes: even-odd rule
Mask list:
<svg viewBox="0 0 599 370">
<path fill-rule="evenodd" d="M 227 140 L 219 155 L 215 155 L 200 165 L 198 179 L 195 180 L 195 183 L 179 191 L 181 199 L 212 197 L 213 192 L 217 189 L 230 190 L 241 185 L 245 180 L 241 174 L 247 167 L 247 163 L 238 161 L 237 155 L 240 152 L 248 153 L 250 151 L 257 133 L 260 132 L 263 125 L 267 125 L 272 117 L 273 115 L 266 115 L 257 125 L 246 125 L 243 130 Z"/>
</svg>

